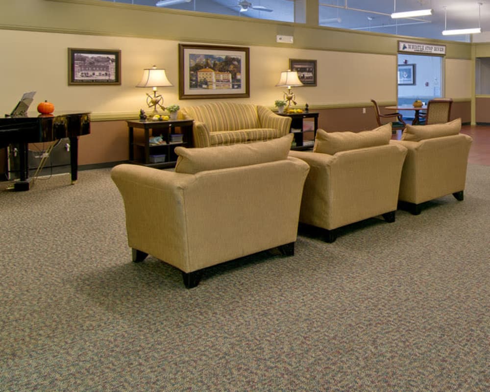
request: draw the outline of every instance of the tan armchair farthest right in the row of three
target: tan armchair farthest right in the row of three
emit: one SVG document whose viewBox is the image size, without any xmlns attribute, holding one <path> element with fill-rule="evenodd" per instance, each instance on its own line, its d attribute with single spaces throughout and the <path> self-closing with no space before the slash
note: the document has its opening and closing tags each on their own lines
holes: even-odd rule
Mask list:
<svg viewBox="0 0 490 392">
<path fill-rule="evenodd" d="M 461 134 L 461 119 L 444 124 L 407 125 L 402 140 L 408 149 L 400 181 L 399 206 L 418 215 L 421 204 L 453 194 L 464 199 L 468 153 L 472 139 Z"/>
</svg>

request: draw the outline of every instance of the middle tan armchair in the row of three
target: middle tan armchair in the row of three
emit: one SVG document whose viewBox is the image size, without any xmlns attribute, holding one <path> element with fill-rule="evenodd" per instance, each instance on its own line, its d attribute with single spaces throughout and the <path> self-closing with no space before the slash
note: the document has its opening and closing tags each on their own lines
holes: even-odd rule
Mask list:
<svg viewBox="0 0 490 392">
<path fill-rule="evenodd" d="M 310 165 L 299 221 L 324 229 L 327 242 L 353 222 L 378 215 L 393 222 L 407 149 L 390 145 L 391 135 L 391 124 L 358 133 L 319 129 L 314 152 L 291 151 Z"/>
</svg>

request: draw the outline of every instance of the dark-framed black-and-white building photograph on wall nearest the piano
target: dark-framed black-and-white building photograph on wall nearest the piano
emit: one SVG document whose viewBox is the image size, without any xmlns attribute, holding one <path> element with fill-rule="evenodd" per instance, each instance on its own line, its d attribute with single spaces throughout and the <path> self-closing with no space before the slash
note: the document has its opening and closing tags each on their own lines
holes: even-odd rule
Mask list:
<svg viewBox="0 0 490 392">
<path fill-rule="evenodd" d="M 68 84 L 121 84 L 121 50 L 68 48 Z"/>
</svg>

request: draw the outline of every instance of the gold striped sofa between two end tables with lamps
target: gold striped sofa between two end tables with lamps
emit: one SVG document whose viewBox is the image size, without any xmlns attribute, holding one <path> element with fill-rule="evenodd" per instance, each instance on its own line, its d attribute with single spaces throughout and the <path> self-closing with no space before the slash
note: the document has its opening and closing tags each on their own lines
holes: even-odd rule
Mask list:
<svg viewBox="0 0 490 392">
<path fill-rule="evenodd" d="M 181 119 L 193 119 L 194 147 L 250 143 L 289 133 L 291 118 L 278 116 L 265 106 L 214 102 L 180 109 Z"/>
</svg>

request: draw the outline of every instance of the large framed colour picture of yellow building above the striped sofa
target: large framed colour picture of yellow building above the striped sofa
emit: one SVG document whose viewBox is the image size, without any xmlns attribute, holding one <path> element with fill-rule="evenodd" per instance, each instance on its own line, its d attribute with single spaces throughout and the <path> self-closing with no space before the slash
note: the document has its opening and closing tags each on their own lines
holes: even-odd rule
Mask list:
<svg viewBox="0 0 490 392">
<path fill-rule="evenodd" d="M 249 49 L 179 44 L 179 99 L 246 98 Z"/>
</svg>

